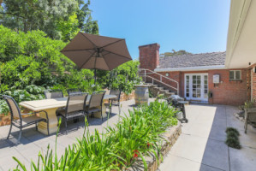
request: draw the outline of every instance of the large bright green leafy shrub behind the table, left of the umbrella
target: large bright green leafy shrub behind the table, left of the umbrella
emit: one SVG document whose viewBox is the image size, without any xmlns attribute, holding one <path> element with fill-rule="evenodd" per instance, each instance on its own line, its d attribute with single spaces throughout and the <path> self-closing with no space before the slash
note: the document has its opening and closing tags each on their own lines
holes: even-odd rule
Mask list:
<svg viewBox="0 0 256 171">
<path fill-rule="evenodd" d="M 0 93 L 13 86 L 24 90 L 27 85 L 60 85 L 91 91 L 93 72 L 78 70 L 60 52 L 66 45 L 63 41 L 46 38 L 45 32 L 15 32 L 1 25 L 0 32 Z"/>
</svg>

